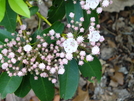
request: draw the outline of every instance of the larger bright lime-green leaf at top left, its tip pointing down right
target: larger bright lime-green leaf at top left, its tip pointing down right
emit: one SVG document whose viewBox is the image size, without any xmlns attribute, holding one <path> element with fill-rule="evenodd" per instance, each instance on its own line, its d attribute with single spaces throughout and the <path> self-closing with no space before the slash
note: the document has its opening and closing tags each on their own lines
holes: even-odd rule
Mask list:
<svg viewBox="0 0 134 101">
<path fill-rule="evenodd" d="M 10 7 L 18 14 L 30 18 L 30 11 L 23 0 L 8 0 Z"/>
</svg>

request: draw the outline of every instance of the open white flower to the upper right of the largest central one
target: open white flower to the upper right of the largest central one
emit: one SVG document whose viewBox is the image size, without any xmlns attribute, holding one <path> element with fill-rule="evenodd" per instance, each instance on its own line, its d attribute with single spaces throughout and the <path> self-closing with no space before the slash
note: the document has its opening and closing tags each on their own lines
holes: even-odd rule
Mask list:
<svg viewBox="0 0 134 101">
<path fill-rule="evenodd" d="M 90 31 L 88 34 L 88 39 L 90 42 L 97 42 L 100 40 L 100 34 L 98 31 Z"/>
</svg>

